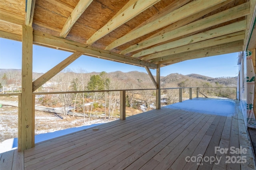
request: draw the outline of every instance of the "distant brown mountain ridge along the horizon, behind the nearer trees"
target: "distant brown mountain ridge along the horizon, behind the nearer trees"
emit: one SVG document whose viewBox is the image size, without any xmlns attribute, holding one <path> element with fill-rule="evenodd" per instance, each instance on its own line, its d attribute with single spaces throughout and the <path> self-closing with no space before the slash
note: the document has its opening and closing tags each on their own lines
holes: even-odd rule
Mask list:
<svg viewBox="0 0 256 170">
<path fill-rule="evenodd" d="M 11 79 L 8 82 L 18 82 L 21 81 L 21 70 L 20 69 L 0 69 L 0 78 L 3 75 Z M 79 77 L 81 73 L 67 72 L 61 74 L 71 74 L 72 77 Z M 83 73 L 86 81 L 90 80 L 90 76 L 100 74 L 100 72 L 90 72 Z M 33 73 L 33 79 L 35 80 L 42 73 Z M 58 74 L 52 78 L 50 81 L 56 81 L 55 79 Z M 108 78 L 118 82 L 120 89 L 128 88 L 155 88 L 150 76 L 146 72 L 130 71 L 130 72 L 109 72 L 106 74 Z M 16 79 L 16 81 L 14 81 Z M 18 81 L 17 81 L 18 80 Z M 0 80 L 1 82 L 1 80 Z M 237 77 L 219 77 L 212 78 L 200 74 L 188 74 L 182 75 L 178 73 L 172 73 L 167 76 L 161 76 L 161 88 L 171 88 L 171 87 L 215 87 L 215 86 L 227 86 L 236 87 Z"/>
</svg>

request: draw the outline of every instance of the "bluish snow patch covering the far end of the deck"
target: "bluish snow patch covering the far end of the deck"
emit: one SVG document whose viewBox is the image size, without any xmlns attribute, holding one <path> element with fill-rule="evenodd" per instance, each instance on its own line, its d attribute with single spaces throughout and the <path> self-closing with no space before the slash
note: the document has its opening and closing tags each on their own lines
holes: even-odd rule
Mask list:
<svg viewBox="0 0 256 170">
<path fill-rule="evenodd" d="M 236 113 L 235 106 L 235 100 L 230 99 L 193 98 L 192 100 L 185 100 L 165 107 L 197 113 L 232 116 Z"/>
</svg>

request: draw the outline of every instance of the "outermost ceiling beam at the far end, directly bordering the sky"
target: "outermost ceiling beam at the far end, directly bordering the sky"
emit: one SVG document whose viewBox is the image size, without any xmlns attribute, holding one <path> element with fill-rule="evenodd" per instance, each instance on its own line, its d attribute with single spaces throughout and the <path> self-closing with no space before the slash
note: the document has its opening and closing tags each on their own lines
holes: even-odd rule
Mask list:
<svg viewBox="0 0 256 170">
<path fill-rule="evenodd" d="M 170 55 L 170 56 L 166 56 L 163 57 L 161 59 L 161 61 L 156 62 L 157 64 L 166 64 L 166 63 L 170 63 L 170 62 L 177 62 L 180 59 L 184 59 L 185 57 L 196 57 L 196 56 L 200 56 L 200 57 L 209 57 L 212 55 L 208 55 L 208 54 L 214 54 L 214 55 L 220 55 L 220 54 L 227 54 L 229 53 L 229 51 L 225 51 L 226 49 L 233 49 L 233 48 L 240 48 L 242 49 L 243 46 L 243 40 L 239 40 L 239 41 L 234 41 L 231 43 L 225 43 L 225 44 L 221 44 L 221 45 L 215 45 L 212 47 L 206 47 L 206 48 L 202 48 L 202 49 L 197 49 L 194 51 L 190 51 L 190 52 L 184 52 L 184 53 L 180 53 L 177 55 Z M 219 53 L 219 51 L 222 51 L 221 53 Z M 199 58 L 200 58 L 199 57 Z M 192 59 L 192 58 L 191 58 Z"/>
</svg>

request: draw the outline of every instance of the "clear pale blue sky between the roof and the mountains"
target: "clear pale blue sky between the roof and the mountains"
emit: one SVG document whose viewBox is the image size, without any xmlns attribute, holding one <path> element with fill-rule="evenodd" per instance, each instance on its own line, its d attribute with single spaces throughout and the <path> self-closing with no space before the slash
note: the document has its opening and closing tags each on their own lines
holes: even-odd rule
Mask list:
<svg viewBox="0 0 256 170">
<path fill-rule="evenodd" d="M 34 45 L 33 72 L 45 73 L 71 54 L 72 53 L 66 51 Z M 167 76 L 171 73 L 179 73 L 184 75 L 195 73 L 214 78 L 222 76 L 233 77 L 238 75 L 237 57 L 238 53 L 232 53 L 228 55 L 219 55 L 183 61 L 162 67 L 160 74 L 161 76 Z M 0 38 L 0 68 L 21 69 L 21 59 L 22 43 L 19 41 Z M 107 61 L 85 55 L 81 56 L 70 64 L 68 68 L 72 70 L 79 70 L 82 68 L 86 72 L 114 72 L 118 70 L 122 72 L 134 70 L 146 72 L 144 67 Z M 151 71 L 153 75 L 156 75 L 155 70 Z"/>
</svg>

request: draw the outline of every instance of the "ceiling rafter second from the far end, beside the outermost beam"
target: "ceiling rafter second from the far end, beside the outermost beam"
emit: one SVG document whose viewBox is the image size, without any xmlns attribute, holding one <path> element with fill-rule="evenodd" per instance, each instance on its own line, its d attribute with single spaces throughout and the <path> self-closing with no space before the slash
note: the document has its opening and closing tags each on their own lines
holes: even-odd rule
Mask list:
<svg viewBox="0 0 256 170">
<path fill-rule="evenodd" d="M 220 44 L 225 44 L 225 43 L 229 43 L 229 42 L 234 42 L 234 41 L 238 41 L 238 40 L 242 40 L 242 39 L 244 39 L 244 31 L 239 31 L 236 33 L 223 35 L 223 36 L 216 37 L 213 39 L 200 41 L 198 43 L 184 45 L 184 46 L 177 47 L 174 49 L 154 53 L 152 55 L 148 55 L 148 56 L 142 58 L 142 60 L 147 61 L 150 59 L 154 59 L 154 60 L 150 61 L 150 62 L 154 63 L 157 61 L 161 61 L 161 58 L 165 57 L 165 56 L 176 55 L 178 53 L 183 53 L 184 51 L 186 51 L 186 52 L 193 51 L 193 50 L 197 50 L 197 49 L 211 47 L 214 45 L 220 45 Z"/>
</svg>

